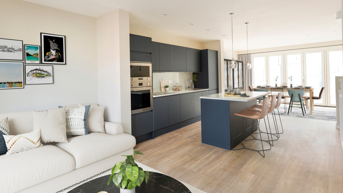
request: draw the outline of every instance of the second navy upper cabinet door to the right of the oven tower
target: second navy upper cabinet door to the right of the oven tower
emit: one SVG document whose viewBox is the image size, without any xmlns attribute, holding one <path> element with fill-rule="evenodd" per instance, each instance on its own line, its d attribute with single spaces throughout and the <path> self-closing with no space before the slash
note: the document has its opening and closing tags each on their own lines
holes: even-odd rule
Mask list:
<svg viewBox="0 0 343 193">
<path fill-rule="evenodd" d="M 159 43 L 159 71 L 171 72 L 173 70 L 172 45 Z"/>
</svg>

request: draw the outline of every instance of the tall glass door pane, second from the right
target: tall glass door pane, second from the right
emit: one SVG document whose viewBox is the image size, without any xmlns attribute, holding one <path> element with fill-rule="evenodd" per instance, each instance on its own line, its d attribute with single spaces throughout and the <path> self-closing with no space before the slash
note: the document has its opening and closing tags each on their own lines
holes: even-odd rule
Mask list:
<svg viewBox="0 0 343 193">
<path fill-rule="evenodd" d="M 319 96 L 322 88 L 322 53 L 306 54 L 306 84 L 314 87 L 314 96 Z M 323 104 L 323 99 L 315 100 L 314 103 Z"/>
</svg>

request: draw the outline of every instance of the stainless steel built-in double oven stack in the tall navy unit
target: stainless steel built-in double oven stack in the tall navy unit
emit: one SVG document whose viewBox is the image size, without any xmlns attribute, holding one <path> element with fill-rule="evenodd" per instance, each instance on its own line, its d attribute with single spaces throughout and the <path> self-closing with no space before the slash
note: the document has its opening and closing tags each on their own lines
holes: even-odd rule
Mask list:
<svg viewBox="0 0 343 193">
<path fill-rule="evenodd" d="M 152 110 L 151 63 L 130 63 L 131 114 Z"/>
</svg>

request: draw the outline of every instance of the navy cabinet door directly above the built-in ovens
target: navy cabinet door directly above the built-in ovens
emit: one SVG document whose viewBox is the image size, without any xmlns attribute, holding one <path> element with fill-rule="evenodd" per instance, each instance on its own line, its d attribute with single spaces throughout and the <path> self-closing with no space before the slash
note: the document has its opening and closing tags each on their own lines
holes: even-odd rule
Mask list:
<svg viewBox="0 0 343 193">
<path fill-rule="evenodd" d="M 151 53 L 151 37 L 130 34 L 130 51 Z"/>
</svg>

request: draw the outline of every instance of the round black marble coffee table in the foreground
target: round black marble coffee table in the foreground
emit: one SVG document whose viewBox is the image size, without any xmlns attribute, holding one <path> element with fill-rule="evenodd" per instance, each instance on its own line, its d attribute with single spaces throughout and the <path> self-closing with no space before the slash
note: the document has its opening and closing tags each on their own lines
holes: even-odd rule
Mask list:
<svg viewBox="0 0 343 193">
<path fill-rule="evenodd" d="M 120 189 L 114 185 L 113 181 L 107 186 L 109 177 L 110 174 L 96 178 L 79 185 L 68 193 L 97 193 L 101 191 L 120 193 Z M 178 180 L 157 172 L 150 172 L 148 183 L 146 184 L 144 180 L 141 186 L 136 186 L 135 191 L 136 193 L 191 193 L 191 191 Z"/>
</svg>

